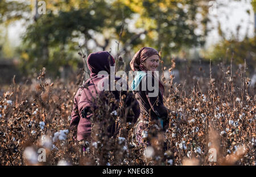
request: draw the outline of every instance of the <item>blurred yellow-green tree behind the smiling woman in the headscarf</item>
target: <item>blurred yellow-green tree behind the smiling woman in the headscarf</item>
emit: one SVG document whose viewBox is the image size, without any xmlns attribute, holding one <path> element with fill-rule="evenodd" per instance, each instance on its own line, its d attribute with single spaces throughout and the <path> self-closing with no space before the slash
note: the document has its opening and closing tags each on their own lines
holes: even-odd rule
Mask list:
<svg viewBox="0 0 256 177">
<path fill-rule="evenodd" d="M 137 27 L 146 29 L 146 39 L 137 46 L 148 45 L 161 50 L 171 59 L 171 52 L 181 48 L 204 45 L 208 22 L 207 1 L 133 0 L 125 1 L 140 15 Z M 201 19 L 200 19 L 201 18 Z M 195 29 L 201 26 L 201 33 Z"/>
</svg>

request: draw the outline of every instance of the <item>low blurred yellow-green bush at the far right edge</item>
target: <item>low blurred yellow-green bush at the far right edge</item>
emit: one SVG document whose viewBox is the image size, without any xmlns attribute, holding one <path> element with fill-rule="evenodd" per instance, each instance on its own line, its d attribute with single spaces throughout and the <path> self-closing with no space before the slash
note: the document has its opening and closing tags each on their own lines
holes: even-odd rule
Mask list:
<svg viewBox="0 0 256 177">
<path fill-rule="evenodd" d="M 247 14 L 254 13 L 254 28 L 256 28 L 256 1 L 251 1 L 253 11 L 247 10 Z M 241 40 L 240 36 L 241 25 L 236 28 L 236 33 L 232 33 L 232 36 L 227 39 L 226 32 L 221 29 L 218 24 L 218 34 L 221 36 L 220 42 L 213 45 L 208 49 L 205 54 L 206 59 L 212 59 L 213 61 L 230 62 L 231 58 L 234 63 L 242 64 L 246 61 L 246 64 L 251 70 L 256 68 L 256 35 L 249 36 L 249 29 L 246 29 L 245 37 Z M 254 30 L 255 34 L 256 30 Z"/>
</svg>

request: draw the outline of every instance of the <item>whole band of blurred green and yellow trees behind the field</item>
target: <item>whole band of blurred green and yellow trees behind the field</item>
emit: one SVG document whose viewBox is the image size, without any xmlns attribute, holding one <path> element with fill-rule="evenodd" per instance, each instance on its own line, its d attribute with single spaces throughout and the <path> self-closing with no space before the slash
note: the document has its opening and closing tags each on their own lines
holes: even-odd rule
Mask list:
<svg viewBox="0 0 256 177">
<path fill-rule="evenodd" d="M 196 48 L 206 51 L 203 57 L 192 56 L 197 60 L 229 60 L 234 53 L 234 62 L 241 63 L 246 58 L 255 63 L 255 37 L 227 40 L 220 30 L 220 43 L 210 52 L 204 48 L 209 31 L 209 1 L 44 0 L 46 14 L 38 13 L 39 2 L 0 2 L 0 58 L 13 53 L 24 74 L 42 67 L 52 75 L 59 75 L 60 68 L 66 66 L 76 69 L 82 63 L 77 54 L 80 47 L 87 54 L 109 50 L 113 56 L 121 55 L 127 67 L 134 52 L 143 46 L 161 50 L 165 65 L 171 64 L 174 54 L 182 58 L 186 56 L 184 52 Z M 255 8 L 255 1 L 251 4 Z M 26 32 L 14 50 L 7 45 L 6 30 L 17 20 L 23 20 Z"/>
</svg>

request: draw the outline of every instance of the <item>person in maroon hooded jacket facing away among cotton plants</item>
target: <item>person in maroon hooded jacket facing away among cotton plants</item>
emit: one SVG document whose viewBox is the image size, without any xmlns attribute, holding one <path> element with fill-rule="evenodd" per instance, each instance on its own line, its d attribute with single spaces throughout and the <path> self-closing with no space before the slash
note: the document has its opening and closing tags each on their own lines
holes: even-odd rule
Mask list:
<svg viewBox="0 0 256 177">
<path fill-rule="evenodd" d="M 94 115 L 94 111 L 97 109 L 98 105 L 108 102 L 106 94 L 114 95 L 115 100 L 119 100 L 119 91 L 105 91 L 104 88 L 105 81 L 109 82 L 110 66 L 114 66 L 114 58 L 109 52 L 96 52 L 89 54 L 87 58 L 88 68 L 90 70 L 90 79 L 88 79 L 82 87 L 77 91 L 74 98 L 73 111 L 71 114 L 71 123 L 69 125 L 70 129 L 76 136 L 77 140 L 91 140 L 92 123 L 90 118 Z M 106 75 L 98 74 L 101 71 L 105 71 Z M 115 78 L 118 80 L 120 78 Z M 99 87 L 100 85 L 100 87 Z M 101 87 L 102 86 L 102 87 Z M 126 106 L 130 106 L 134 112 L 134 115 L 129 115 L 126 117 L 127 121 L 136 121 L 139 115 L 139 110 L 137 109 L 137 101 L 131 97 L 132 93 L 127 95 L 126 91 L 122 91 L 122 94 L 126 94 Z M 121 94 L 121 95 L 122 95 Z M 106 103 L 108 105 L 108 103 Z M 115 105 L 115 109 L 118 105 Z M 105 111 L 105 110 L 104 110 Z M 111 110 L 110 111 L 114 111 Z M 98 116 L 98 115 L 96 115 Z M 101 117 L 102 119 L 106 117 Z M 115 124 L 109 123 L 110 125 Z M 115 126 L 114 126 L 115 127 Z M 109 127 L 100 127 L 100 129 L 109 129 Z M 113 126 L 112 126 L 113 128 Z M 110 128 L 109 136 L 113 136 L 115 132 Z"/>
</svg>

